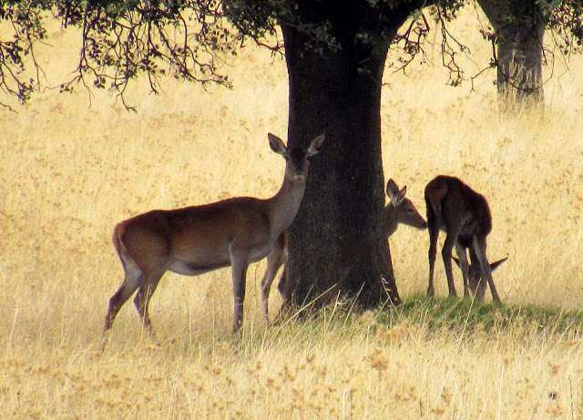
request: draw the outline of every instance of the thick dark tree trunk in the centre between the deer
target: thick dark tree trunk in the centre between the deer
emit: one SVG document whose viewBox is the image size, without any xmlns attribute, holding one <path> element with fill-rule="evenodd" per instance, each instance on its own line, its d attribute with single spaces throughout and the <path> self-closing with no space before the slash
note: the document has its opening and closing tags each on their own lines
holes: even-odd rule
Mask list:
<svg viewBox="0 0 583 420">
<path fill-rule="evenodd" d="M 327 10 L 340 48 L 310 46 L 297 25 L 281 25 L 290 84 L 289 143 L 305 147 L 316 135 L 326 134 L 290 229 L 282 292 L 285 302 L 300 307 L 318 308 L 346 296 L 356 297 L 361 307 L 400 302 L 381 229 L 380 100 L 390 39 L 378 36 L 377 27 L 375 42 L 357 42 L 359 31 L 373 27 L 361 12 L 343 3 Z M 311 10 L 307 15 L 317 14 Z"/>
</svg>

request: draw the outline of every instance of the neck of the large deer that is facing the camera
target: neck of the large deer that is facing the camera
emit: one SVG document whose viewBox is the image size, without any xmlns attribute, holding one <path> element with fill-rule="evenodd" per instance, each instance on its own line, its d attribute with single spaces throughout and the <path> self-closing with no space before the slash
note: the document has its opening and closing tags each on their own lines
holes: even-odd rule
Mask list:
<svg viewBox="0 0 583 420">
<path fill-rule="evenodd" d="M 283 230 L 288 229 L 292 224 L 300 209 L 305 188 L 305 179 L 292 180 L 285 177 L 278 193 L 267 200 L 270 230 L 274 238 L 277 238 Z"/>
</svg>

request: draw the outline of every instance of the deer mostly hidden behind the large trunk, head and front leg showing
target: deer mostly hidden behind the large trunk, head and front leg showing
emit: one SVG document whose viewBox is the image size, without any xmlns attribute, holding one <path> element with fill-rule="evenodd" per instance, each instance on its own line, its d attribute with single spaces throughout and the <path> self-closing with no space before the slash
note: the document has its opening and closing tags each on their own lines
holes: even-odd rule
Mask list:
<svg viewBox="0 0 583 420">
<path fill-rule="evenodd" d="M 389 196 L 391 201 L 386 205 L 383 211 L 383 222 L 384 222 L 384 233 L 387 238 L 389 238 L 397 230 L 399 223 L 403 223 L 407 226 L 411 226 L 417 229 L 425 229 L 427 227 L 427 222 L 424 220 L 423 216 L 419 214 L 413 202 L 409 199 L 405 199 L 404 195 L 407 192 L 407 187 L 403 187 L 403 190 L 399 190 L 397 184 L 393 179 L 389 179 L 386 184 L 386 194 Z M 283 271 L 281 271 L 280 282 L 278 284 L 278 290 L 280 294 L 282 293 L 283 285 L 285 284 L 285 273 L 286 267 L 285 263 L 288 261 L 288 232 L 284 230 L 281 232 L 280 237 L 275 241 L 275 246 L 267 256 L 267 270 L 263 274 L 263 279 L 261 280 L 261 300 L 263 303 L 263 317 L 265 323 L 269 324 L 269 308 L 268 302 L 270 298 L 271 283 L 280 270 L 281 265 L 283 265 Z"/>
</svg>

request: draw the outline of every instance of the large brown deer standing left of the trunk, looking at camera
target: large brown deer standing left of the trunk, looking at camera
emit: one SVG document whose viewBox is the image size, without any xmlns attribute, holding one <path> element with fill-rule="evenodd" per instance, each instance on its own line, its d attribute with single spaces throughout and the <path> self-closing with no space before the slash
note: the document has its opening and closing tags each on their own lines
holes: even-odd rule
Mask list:
<svg viewBox="0 0 583 420">
<path fill-rule="evenodd" d="M 153 335 L 148 306 L 164 272 L 195 276 L 229 266 L 232 331 L 240 329 L 247 268 L 265 258 L 281 232 L 292 224 L 305 190 L 308 159 L 318 153 L 324 140 L 322 134 L 308 149 L 288 149 L 281 138 L 272 134 L 268 138 L 271 149 L 286 159 L 281 189 L 271 199 L 240 197 L 179 210 L 153 210 L 118 223 L 113 243 L 126 277 L 109 300 L 106 331 L 138 290 L 134 303 L 144 327 Z"/>
</svg>

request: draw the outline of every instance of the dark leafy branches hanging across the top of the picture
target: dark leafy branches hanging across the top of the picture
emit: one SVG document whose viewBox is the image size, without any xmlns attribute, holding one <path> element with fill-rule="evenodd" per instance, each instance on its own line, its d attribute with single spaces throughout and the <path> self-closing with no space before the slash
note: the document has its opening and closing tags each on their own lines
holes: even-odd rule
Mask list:
<svg viewBox="0 0 583 420">
<path fill-rule="evenodd" d="M 322 44 L 339 47 L 339 34 L 331 33 L 327 16 L 332 5 L 317 3 L 320 6 L 306 21 L 298 13 L 302 2 L 273 0 L 3 1 L 0 5 L 0 88 L 7 96 L 25 102 L 41 86 L 42 63 L 36 62 L 35 45 L 46 41 L 48 19 L 59 20 L 64 27 L 79 28 L 82 37 L 77 68 L 72 69 L 74 76 L 60 82 L 61 91 L 79 85 L 89 89 L 106 88 L 123 100 L 128 84 L 142 74 L 148 77 L 154 92 L 159 91 L 160 77 L 230 87 L 229 75 L 220 69 L 223 57 L 236 55 L 247 42 L 281 53 L 283 43 L 277 25 L 298 27 L 308 35 L 313 48 Z M 381 16 L 377 22 L 381 30 L 362 30 L 354 36 L 360 42 L 378 45 L 382 45 L 379 36 L 390 38 L 391 47 L 400 51 L 394 66 L 406 67 L 414 56 L 424 59 L 424 42 L 431 26 L 435 26 L 442 36 L 443 65 L 450 70 L 449 83 L 457 86 L 468 78 L 456 61 L 456 56 L 466 53 L 467 48 L 448 31 L 447 23 L 455 19 L 460 8 L 476 7 L 476 4 L 484 8 L 491 23 L 482 31 L 483 36 L 495 46 L 492 61 L 486 68 L 498 68 L 498 82 L 505 86 L 532 89 L 524 86 L 520 77 L 509 73 L 500 57 L 506 52 L 496 51 L 496 46 L 512 41 L 517 26 L 526 27 L 527 32 L 536 27 L 550 30 L 549 43 L 542 43 L 542 36 L 534 37 L 543 64 L 552 62 L 557 54 L 580 51 L 583 3 L 573 0 L 479 0 L 476 3 L 445 0 L 418 4 L 377 0 L 363 5 L 356 2 L 353 7 L 365 6 Z M 418 9 L 429 5 L 430 9 Z M 391 26 L 391 16 L 403 8 L 411 19 L 397 34 Z M 527 36 L 517 37 L 515 43 L 527 42 Z M 513 45 L 508 54 L 516 56 L 516 47 Z M 35 75 L 30 77 L 25 67 L 32 68 Z M 541 83 L 539 80 L 538 84 Z"/>
</svg>

